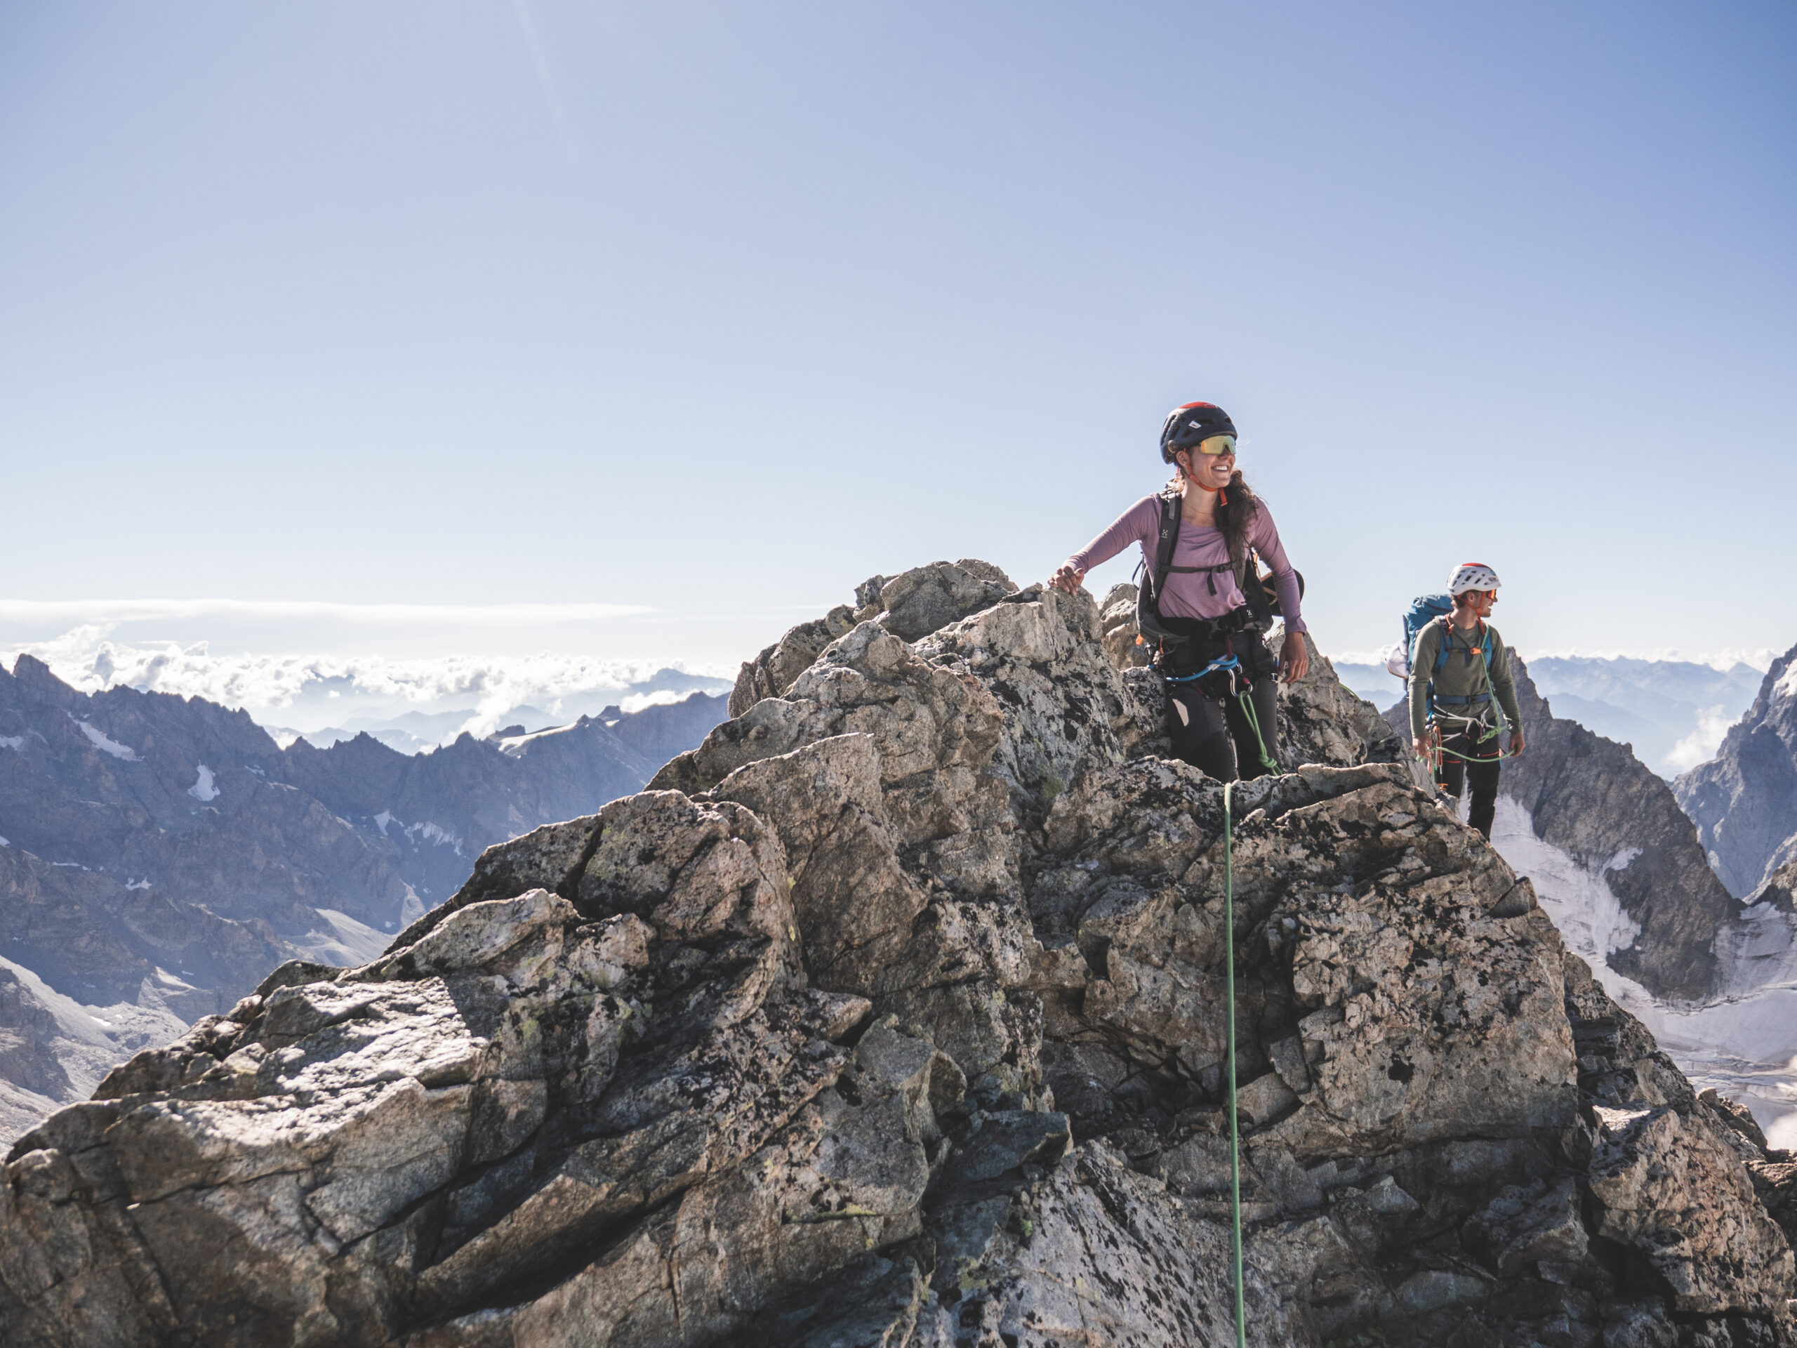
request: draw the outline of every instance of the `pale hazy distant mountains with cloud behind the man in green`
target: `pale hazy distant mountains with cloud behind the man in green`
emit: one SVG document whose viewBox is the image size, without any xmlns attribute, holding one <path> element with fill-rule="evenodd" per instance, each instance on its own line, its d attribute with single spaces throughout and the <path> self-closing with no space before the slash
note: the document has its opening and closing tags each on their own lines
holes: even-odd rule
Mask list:
<svg viewBox="0 0 1797 1348">
<path fill-rule="evenodd" d="M 1384 665 L 1337 660 L 1335 670 L 1375 706 L 1403 696 L 1403 685 Z M 1542 697 L 1553 699 L 1556 715 L 1628 744 L 1666 778 L 1716 753 L 1761 681 L 1759 670 L 1745 663 L 1718 670 L 1687 660 L 1630 656 L 1535 656 L 1529 674 Z"/>
</svg>

